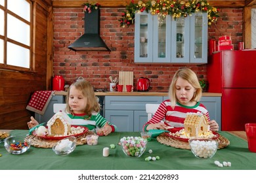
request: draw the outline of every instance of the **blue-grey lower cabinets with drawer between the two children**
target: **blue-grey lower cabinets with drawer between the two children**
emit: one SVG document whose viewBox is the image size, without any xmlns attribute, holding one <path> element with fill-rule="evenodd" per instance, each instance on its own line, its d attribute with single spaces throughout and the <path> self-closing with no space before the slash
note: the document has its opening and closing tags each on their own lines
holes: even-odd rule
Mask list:
<svg viewBox="0 0 256 183">
<path fill-rule="evenodd" d="M 161 103 L 162 96 L 106 96 L 105 118 L 118 131 L 142 131 L 148 121 L 146 103 Z"/>
</svg>

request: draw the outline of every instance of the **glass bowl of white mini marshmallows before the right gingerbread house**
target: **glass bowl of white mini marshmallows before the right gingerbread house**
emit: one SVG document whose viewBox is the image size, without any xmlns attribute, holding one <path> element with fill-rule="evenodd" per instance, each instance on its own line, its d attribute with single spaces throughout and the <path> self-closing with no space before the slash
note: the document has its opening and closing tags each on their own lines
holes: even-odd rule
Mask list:
<svg viewBox="0 0 256 183">
<path fill-rule="evenodd" d="M 219 143 L 213 139 L 189 139 L 191 151 L 198 158 L 212 158 L 217 152 Z"/>
</svg>

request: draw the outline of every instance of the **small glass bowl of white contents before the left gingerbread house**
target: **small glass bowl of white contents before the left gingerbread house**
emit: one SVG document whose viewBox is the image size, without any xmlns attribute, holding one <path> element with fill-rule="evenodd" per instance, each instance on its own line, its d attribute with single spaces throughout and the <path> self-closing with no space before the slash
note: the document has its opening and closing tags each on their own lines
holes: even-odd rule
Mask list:
<svg viewBox="0 0 256 183">
<path fill-rule="evenodd" d="M 76 147 L 76 138 L 75 137 L 67 137 L 62 139 L 53 146 L 53 152 L 60 156 L 66 156 L 72 153 Z"/>
</svg>

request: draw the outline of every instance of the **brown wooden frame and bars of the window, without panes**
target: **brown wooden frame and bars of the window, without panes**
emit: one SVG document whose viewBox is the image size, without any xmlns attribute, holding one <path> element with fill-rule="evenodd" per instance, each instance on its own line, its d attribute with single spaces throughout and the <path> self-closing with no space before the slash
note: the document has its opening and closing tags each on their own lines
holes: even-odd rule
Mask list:
<svg viewBox="0 0 256 183">
<path fill-rule="evenodd" d="M 30 22 L 25 20 L 24 18 L 18 16 L 18 14 L 15 14 L 15 12 L 11 12 L 11 10 L 7 9 L 7 1 L 5 0 L 5 7 L 0 5 L 0 9 L 3 10 L 4 14 L 4 35 L 0 35 L 0 39 L 3 40 L 3 63 L 0 63 L 0 70 L 9 70 L 9 71 L 20 71 L 20 72 L 34 72 L 33 67 L 33 4 L 31 0 L 24 0 L 30 3 Z M 18 20 L 24 22 L 25 24 L 30 25 L 30 46 L 26 44 L 22 44 L 21 42 L 15 41 L 13 39 L 10 39 L 7 37 L 7 14 L 10 14 L 11 16 L 14 16 Z M 16 44 L 18 46 L 22 46 L 23 48 L 27 48 L 30 50 L 30 61 L 29 61 L 29 68 L 26 67 L 19 67 L 15 65 L 8 65 L 7 64 L 7 42 L 11 42 L 12 44 Z"/>
</svg>

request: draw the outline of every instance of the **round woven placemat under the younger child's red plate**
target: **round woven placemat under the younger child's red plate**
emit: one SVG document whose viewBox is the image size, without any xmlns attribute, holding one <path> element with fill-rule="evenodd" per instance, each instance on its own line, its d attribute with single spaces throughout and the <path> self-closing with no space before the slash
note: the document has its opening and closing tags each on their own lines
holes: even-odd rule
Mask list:
<svg viewBox="0 0 256 183">
<path fill-rule="evenodd" d="M 76 137 L 76 145 L 83 145 L 87 144 L 86 136 L 95 134 L 93 131 L 87 131 L 83 135 L 79 135 Z M 35 148 L 53 148 L 54 144 L 60 140 L 49 140 L 49 139 L 42 139 L 41 137 L 37 137 L 35 135 L 28 135 L 26 139 L 30 139 L 31 146 Z"/>
</svg>

